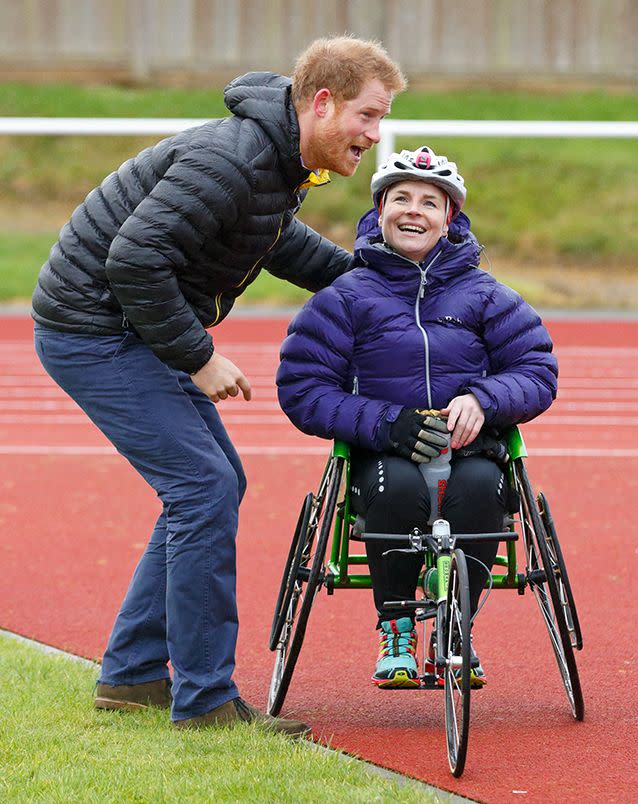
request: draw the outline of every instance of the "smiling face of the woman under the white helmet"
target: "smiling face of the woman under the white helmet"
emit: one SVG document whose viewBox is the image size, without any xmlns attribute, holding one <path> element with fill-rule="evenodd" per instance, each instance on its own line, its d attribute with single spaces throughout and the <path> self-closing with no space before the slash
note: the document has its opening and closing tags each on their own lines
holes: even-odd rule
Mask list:
<svg viewBox="0 0 638 804">
<path fill-rule="evenodd" d="M 447 234 L 448 196 L 435 184 L 402 181 L 385 194 L 379 224 L 385 242 L 404 257 L 422 262 Z"/>
</svg>

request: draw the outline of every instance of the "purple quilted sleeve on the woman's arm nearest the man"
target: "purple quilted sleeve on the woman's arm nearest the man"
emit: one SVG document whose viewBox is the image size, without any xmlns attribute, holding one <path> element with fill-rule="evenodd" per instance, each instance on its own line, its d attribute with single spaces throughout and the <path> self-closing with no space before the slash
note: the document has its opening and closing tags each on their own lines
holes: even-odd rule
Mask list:
<svg viewBox="0 0 638 804">
<path fill-rule="evenodd" d="M 401 406 L 352 393 L 353 347 L 347 299 L 334 287 L 320 291 L 293 320 L 283 342 L 279 403 L 304 433 L 387 449 L 387 419 L 396 419 Z"/>
</svg>

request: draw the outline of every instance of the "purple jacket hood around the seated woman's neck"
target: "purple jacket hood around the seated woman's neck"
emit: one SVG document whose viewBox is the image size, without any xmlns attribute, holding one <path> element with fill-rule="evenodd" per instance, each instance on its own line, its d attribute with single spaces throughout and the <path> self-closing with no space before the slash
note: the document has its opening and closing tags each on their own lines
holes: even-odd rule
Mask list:
<svg viewBox="0 0 638 804">
<path fill-rule="evenodd" d="M 424 263 L 429 263 L 439 252 L 441 256 L 432 266 L 431 280 L 438 278 L 445 281 L 462 270 L 478 267 L 481 246 L 471 231 L 470 219 L 463 212 L 459 212 L 450 223 L 447 236 L 439 240 Z M 393 252 L 384 243 L 377 209 L 368 210 L 359 220 L 354 253 L 358 264 L 368 265 L 382 273 L 392 272 L 396 275 L 401 270 L 407 270 L 413 275 L 410 266 L 414 263 Z"/>
</svg>

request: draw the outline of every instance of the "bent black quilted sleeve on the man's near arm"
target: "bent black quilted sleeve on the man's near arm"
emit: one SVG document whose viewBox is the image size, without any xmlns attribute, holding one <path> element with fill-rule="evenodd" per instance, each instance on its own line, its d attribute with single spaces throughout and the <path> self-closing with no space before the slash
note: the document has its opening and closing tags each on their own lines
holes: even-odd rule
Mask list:
<svg viewBox="0 0 638 804">
<path fill-rule="evenodd" d="M 192 149 L 169 167 L 113 239 L 106 274 L 124 314 L 169 366 L 189 373 L 213 353 L 177 275 L 207 238 L 232 225 L 250 185 L 227 154 Z"/>
</svg>

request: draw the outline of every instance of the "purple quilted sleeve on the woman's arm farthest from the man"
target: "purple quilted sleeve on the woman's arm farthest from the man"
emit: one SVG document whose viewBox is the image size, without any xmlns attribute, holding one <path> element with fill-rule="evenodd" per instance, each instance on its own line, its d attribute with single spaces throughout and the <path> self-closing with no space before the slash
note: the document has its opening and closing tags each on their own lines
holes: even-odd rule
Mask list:
<svg viewBox="0 0 638 804">
<path fill-rule="evenodd" d="M 547 410 L 556 398 L 558 364 L 536 311 L 499 284 L 485 310 L 483 337 L 490 372 L 466 390 L 478 398 L 486 423 L 506 427 Z"/>
</svg>

